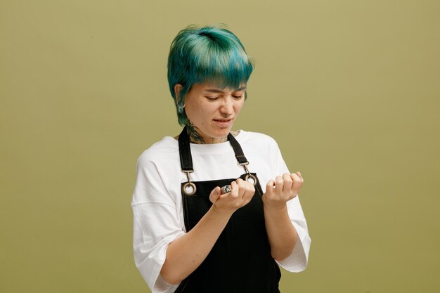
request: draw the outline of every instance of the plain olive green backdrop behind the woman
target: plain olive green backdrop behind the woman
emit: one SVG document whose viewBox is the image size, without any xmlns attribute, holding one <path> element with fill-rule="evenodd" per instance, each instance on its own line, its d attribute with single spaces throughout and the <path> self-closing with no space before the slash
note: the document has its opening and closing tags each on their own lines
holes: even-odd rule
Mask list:
<svg viewBox="0 0 440 293">
<path fill-rule="evenodd" d="M 254 58 L 235 129 L 276 138 L 312 238 L 282 292 L 440 292 L 439 1 L 1 1 L 0 292 L 148 292 L 136 159 L 180 131 L 169 45 Z M 217 276 L 221 282 L 221 276 Z"/>
</svg>

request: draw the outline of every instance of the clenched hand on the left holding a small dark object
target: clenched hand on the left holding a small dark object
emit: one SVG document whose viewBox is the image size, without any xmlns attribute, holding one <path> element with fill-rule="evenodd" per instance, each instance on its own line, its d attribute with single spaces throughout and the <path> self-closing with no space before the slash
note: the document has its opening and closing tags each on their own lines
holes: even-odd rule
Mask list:
<svg viewBox="0 0 440 293">
<path fill-rule="evenodd" d="M 209 195 L 209 200 L 216 211 L 233 214 L 234 211 L 245 206 L 255 193 L 254 185 L 238 178 L 231 182 L 231 192 L 221 194 L 221 188 L 217 186 Z"/>
</svg>

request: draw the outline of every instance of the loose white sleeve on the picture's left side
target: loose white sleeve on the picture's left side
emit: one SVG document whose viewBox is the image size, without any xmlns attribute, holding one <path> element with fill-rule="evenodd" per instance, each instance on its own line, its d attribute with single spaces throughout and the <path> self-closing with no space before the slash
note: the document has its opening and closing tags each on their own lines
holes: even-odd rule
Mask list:
<svg viewBox="0 0 440 293">
<path fill-rule="evenodd" d="M 184 233 L 176 203 L 164 187 L 157 167 L 141 155 L 137 162 L 133 209 L 134 261 L 153 293 L 173 292 L 177 285 L 165 282 L 160 271 L 169 243 Z"/>
</svg>

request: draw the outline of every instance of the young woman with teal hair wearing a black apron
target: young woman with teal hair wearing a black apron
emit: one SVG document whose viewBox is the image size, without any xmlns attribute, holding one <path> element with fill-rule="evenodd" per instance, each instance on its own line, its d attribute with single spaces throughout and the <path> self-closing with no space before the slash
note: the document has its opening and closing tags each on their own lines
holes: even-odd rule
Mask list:
<svg viewBox="0 0 440 293">
<path fill-rule="evenodd" d="M 306 268 L 301 173 L 273 138 L 231 131 L 252 70 L 225 28 L 186 27 L 172 42 L 168 82 L 184 127 L 138 158 L 131 202 L 134 258 L 153 293 L 276 293 L 278 265 Z"/>
</svg>

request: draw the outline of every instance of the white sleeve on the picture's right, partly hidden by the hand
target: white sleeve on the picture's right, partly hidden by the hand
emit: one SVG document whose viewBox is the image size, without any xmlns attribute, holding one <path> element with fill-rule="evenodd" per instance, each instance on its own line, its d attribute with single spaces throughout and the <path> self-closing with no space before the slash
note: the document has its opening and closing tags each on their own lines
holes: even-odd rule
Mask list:
<svg viewBox="0 0 440 293">
<path fill-rule="evenodd" d="M 287 165 L 284 162 L 280 149 L 275 141 L 273 145 L 273 162 L 277 175 L 284 173 L 290 173 Z M 311 245 L 311 238 L 309 236 L 309 230 L 307 228 L 306 218 L 302 211 L 301 203 L 299 202 L 299 195 L 287 202 L 287 211 L 289 213 L 290 221 L 297 230 L 297 242 L 292 251 L 292 254 L 283 261 L 277 261 L 280 266 L 290 272 L 304 271 L 309 259 L 309 251 Z"/>
</svg>

